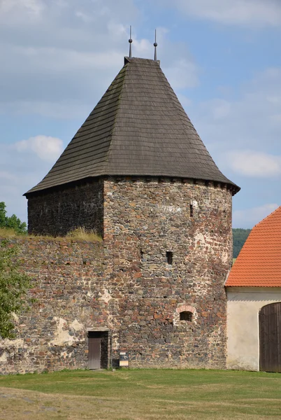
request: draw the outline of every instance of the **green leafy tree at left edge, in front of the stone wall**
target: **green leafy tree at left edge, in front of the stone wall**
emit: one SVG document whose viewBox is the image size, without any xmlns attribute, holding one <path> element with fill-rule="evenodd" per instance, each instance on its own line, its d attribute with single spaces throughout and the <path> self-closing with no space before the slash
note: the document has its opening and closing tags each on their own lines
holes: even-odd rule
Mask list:
<svg viewBox="0 0 281 420">
<path fill-rule="evenodd" d="M 17 246 L 8 246 L 8 241 L 0 242 L 0 337 L 15 338 L 13 314 L 29 309 L 33 302 L 27 297 L 31 287 L 27 274 L 19 271 L 16 259 Z"/>
</svg>

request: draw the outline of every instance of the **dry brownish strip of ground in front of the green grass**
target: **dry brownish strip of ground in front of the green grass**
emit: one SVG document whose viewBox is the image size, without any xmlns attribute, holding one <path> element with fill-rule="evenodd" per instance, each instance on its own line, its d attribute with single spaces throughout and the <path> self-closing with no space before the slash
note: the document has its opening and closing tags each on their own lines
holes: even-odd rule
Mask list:
<svg viewBox="0 0 281 420">
<path fill-rule="evenodd" d="M 229 403 L 229 409 L 233 403 Z M 0 420 L 180 420 L 225 419 L 228 404 L 151 399 L 93 397 L 48 394 L 16 388 L 0 388 Z M 249 406 L 245 404 L 245 407 Z M 222 412 L 220 412 L 222 409 Z M 243 407 L 242 407 L 243 409 Z M 241 413 L 231 413 L 231 419 L 241 419 Z M 260 420 L 264 416 L 245 413 L 243 420 Z M 267 420 L 276 416 L 266 416 Z"/>
</svg>

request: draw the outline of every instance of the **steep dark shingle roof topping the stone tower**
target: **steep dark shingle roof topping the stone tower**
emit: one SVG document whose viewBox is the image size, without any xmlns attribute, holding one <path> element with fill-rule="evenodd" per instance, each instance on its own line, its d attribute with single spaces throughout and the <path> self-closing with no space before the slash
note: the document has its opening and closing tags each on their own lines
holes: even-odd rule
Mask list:
<svg viewBox="0 0 281 420">
<path fill-rule="evenodd" d="M 240 189 L 219 171 L 152 59 L 125 57 L 50 172 L 26 194 L 105 175 L 202 179 Z"/>
</svg>

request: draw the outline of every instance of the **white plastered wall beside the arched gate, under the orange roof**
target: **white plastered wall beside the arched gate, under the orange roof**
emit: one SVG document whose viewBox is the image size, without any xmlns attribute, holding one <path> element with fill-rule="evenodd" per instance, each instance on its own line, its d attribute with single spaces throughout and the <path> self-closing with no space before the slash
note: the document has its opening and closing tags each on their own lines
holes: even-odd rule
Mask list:
<svg viewBox="0 0 281 420">
<path fill-rule="evenodd" d="M 227 287 L 228 369 L 259 370 L 259 311 L 281 302 L 281 288 Z"/>
</svg>

